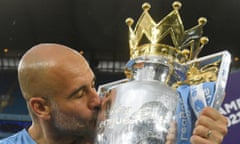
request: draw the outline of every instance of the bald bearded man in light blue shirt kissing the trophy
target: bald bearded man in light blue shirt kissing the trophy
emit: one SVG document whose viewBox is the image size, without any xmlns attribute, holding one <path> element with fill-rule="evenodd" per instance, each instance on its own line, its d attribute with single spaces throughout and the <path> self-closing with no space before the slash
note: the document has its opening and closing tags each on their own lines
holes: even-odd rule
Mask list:
<svg viewBox="0 0 240 144">
<path fill-rule="evenodd" d="M 18 78 L 32 125 L 0 144 L 94 142 L 100 99 L 94 73 L 81 54 L 59 44 L 36 45 L 20 60 Z M 191 143 L 221 143 L 226 133 L 226 118 L 207 107 L 196 122 Z"/>
</svg>

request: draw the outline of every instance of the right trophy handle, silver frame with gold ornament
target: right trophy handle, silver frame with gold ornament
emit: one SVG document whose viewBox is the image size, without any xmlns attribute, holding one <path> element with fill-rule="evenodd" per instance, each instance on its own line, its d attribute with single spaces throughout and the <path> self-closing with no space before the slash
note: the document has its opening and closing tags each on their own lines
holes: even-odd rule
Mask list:
<svg viewBox="0 0 240 144">
<path fill-rule="evenodd" d="M 219 109 L 224 97 L 231 63 L 228 51 L 204 56 L 186 63 L 186 80 L 183 83 L 197 85 L 204 82 L 215 82 L 213 100 L 209 106 Z"/>
</svg>

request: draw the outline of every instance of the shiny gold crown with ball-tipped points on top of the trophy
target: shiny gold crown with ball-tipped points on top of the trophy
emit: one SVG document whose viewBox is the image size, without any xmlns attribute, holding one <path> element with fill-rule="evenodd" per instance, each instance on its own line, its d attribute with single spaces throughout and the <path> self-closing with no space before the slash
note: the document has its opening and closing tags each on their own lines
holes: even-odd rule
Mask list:
<svg viewBox="0 0 240 144">
<path fill-rule="evenodd" d="M 159 23 L 156 23 L 149 14 L 151 5 L 142 5 L 143 13 L 136 23 L 135 29 L 132 18 L 127 18 L 129 26 L 129 47 L 130 59 L 140 56 L 163 56 L 175 62 L 184 63 L 196 58 L 208 42 L 207 37 L 202 37 L 202 28 L 206 24 L 206 18 L 199 18 L 198 25 L 184 30 L 184 26 L 179 14 L 181 3 L 173 2 L 173 10 L 165 16 Z M 143 42 L 144 36 L 146 37 Z M 167 37 L 171 39 L 171 44 L 165 42 Z"/>
</svg>

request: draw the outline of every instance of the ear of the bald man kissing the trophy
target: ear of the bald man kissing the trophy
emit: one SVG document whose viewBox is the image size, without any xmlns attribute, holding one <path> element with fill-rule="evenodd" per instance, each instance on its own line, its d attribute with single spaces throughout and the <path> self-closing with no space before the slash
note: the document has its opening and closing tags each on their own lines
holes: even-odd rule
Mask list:
<svg viewBox="0 0 240 144">
<path fill-rule="evenodd" d="M 32 97 L 28 101 L 29 107 L 32 109 L 32 112 L 41 119 L 50 118 L 50 106 L 49 102 L 42 97 Z"/>
</svg>

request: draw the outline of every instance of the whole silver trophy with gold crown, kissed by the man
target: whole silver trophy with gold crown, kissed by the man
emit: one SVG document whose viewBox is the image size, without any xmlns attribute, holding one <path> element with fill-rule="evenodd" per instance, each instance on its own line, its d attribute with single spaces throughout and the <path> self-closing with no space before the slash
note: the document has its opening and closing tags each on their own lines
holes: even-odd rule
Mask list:
<svg viewBox="0 0 240 144">
<path fill-rule="evenodd" d="M 197 88 L 195 93 L 200 97 L 191 96 L 192 92 L 188 99 L 196 116 L 203 106 L 220 107 L 230 54 L 223 51 L 197 58 L 208 42 L 201 36 L 206 19 L 200 18 L 197 26 L 184 30 L 180 7 L 181 3 L 174 2 L 173 11 L 155 23 L 148 13 L 150 5 L 144 3 L 135 29 L 131 28 L 133 20 L 126 20 L 130 31 L 127 78 L 99 86 L 103 102 L 95 143 L 165 144 L 181 143 L 182 138 L 188 141 L 187 133 L 192 129 L 183 125 L 183 115 L 187 122 L 193 122 L 189 119 L 189 108 L 181 109 L 186 102 L 179 104 L 181 88 Z M 165 41 L 167 36 L 171 37 L 172 45 Z M 147 43 L 141 43 L 143 37 Z M 212 87 L 205 86 L 206 83 Z M 203 89 L 199 88 L 200 84 Z"/>
</svg>

